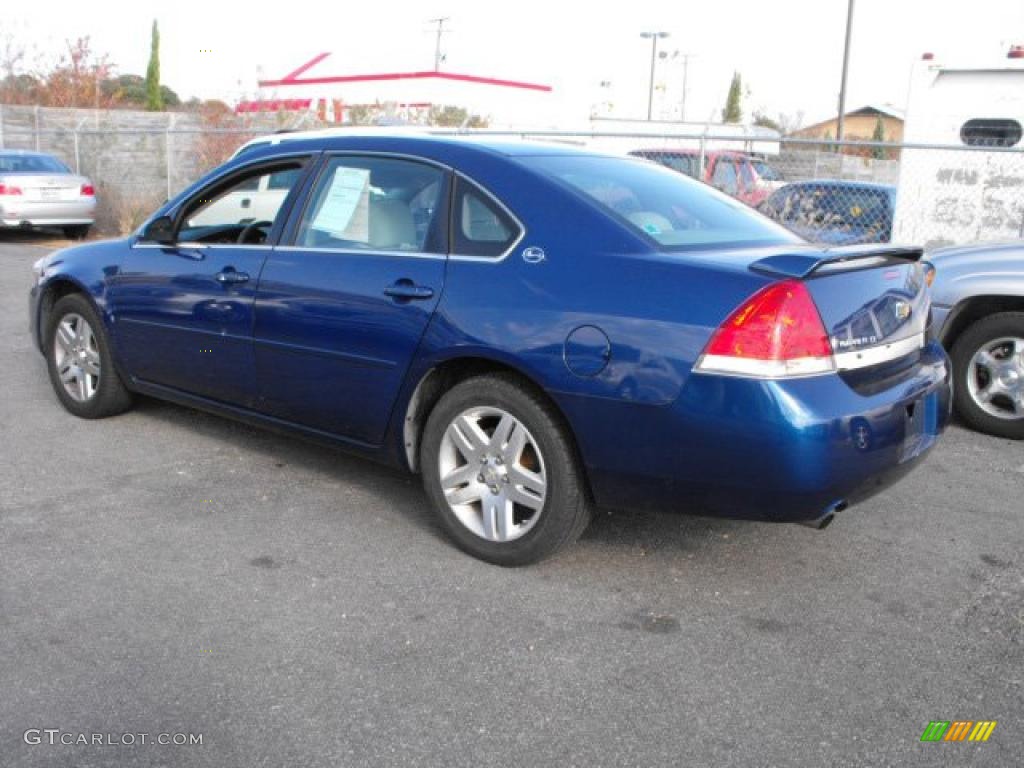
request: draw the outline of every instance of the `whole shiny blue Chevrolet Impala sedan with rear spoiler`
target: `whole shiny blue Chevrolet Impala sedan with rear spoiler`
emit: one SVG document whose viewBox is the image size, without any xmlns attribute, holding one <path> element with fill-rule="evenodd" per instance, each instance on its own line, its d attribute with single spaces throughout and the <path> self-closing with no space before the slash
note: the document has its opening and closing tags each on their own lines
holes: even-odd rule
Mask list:
<svg viewBox="0 0 1024 768">
<path fill-rule="evenodd" d="M 30 313 L 72 414 L 143 394 L 402 467 L 517 565 L 600 507 L 823 527 L 915 466 L 950 398 L 920 257 L 641 160 L 332 136 L 41 259 Z"/>
</svg>

